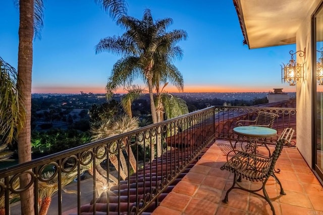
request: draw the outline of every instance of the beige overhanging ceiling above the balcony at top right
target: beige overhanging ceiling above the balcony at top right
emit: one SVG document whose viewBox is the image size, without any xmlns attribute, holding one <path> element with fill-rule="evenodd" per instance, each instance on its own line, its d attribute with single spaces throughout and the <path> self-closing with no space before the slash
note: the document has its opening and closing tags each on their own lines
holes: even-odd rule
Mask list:
<svg viewBox="0 0 323 215">
<path fill-rule="evenodd" d="M 312 0 L 234 0 L 249 48 L 296 43 Z"/>
</svg>

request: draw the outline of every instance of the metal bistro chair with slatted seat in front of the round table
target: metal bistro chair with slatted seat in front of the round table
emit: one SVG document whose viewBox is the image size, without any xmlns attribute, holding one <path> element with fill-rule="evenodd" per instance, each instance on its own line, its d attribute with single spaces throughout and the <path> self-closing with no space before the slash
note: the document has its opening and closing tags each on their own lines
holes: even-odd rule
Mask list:
<svg viewBox="0 0 323 215">
<path fill-rule="evenodd" d="M 225 163 L 221 170 L 228 170 L 234 173 L 233 185 L 227 191 L 225 198 L 223 199 L 224 203 L 228 203 L 228 195 L 233 189 L 241 189 L 250 193 L 253 193 L 257 196 L 264 198 L 268 204 L 270 204 L 273 214 L 275 214 L 274 206 L 268 197 L 268 194 L 265 189 L 266 182 L 269 177 L 273 176 L 277 183 L 280 186 L 280 194 L 286 195 L 282 187 L 281 182 L 275 175 L 275 164 L 279 155 L 282 152 L 284 145 L 284 139 L 280 139 L 276 143 L 274 152 L 270 157 L 262 156 L 254 153 L 247 153 L 245 151 L 232 150 L 227 155 L 227 163 Z M 262 186 L 259 189 L 247 189 L 239 184 L 241 178 L 245 178 L 250 182 L 261 181 Z M 237 186 L 236 186 L 237 185 Z M 257 193 L 257 191 L 262 190 L 263 195 Z"/>
</svg>

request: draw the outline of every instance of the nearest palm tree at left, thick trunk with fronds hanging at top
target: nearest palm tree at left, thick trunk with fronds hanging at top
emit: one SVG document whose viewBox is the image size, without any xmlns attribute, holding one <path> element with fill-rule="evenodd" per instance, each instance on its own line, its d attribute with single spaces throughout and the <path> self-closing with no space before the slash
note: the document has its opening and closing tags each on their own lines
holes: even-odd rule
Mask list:
<svg viewBox="0 0 323 215">
<path fill-rule="evenodd" d="M 95 0 L 102 8 L 109 12 L 112 18 L 126 13 L 124 0 Z M 21 109 L 25 108 L 26 117 L 18 136 L 19 163 L 31 160 L 30 120 L 31 120 L 31 72 L 33 64 L 34 32 L 42 27 L 43 1 L 19 0 L 19 47 L 18 47 L 18 84 L 22 90 L 19 99 Z M 36 31 L 34 31 L 36 29 Z M 21 84 L 20 84 L 21 83 Z M 28 184 L 29 177 L 21 177 L 20 185 Z M 21 208 L 23 214 L 34 214 L 33 187 L 21 193 Z"/>
</svg>

